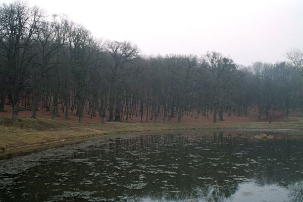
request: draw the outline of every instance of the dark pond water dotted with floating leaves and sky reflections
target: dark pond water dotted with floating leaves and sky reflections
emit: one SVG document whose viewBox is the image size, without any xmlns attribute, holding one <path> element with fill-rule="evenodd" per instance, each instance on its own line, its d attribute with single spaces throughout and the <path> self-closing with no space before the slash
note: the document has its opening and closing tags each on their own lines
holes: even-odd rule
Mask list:
<svg viewBox="0 0 303 202">
<path fill-rule="evenodd" d="M 300 135 L 124 135 L 0 161 L 0 201 L 302 201 L 302 188 Z"/>
</svg>

